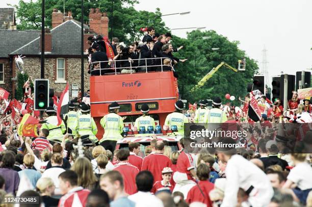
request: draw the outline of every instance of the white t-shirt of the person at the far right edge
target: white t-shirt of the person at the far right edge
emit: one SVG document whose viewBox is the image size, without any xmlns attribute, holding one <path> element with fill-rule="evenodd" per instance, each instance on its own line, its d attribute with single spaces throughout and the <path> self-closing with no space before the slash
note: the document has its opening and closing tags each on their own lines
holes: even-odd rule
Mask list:
<svg viewBox="0 0 312 207">
<path fill-rule="evenodd" d="M 311 189 L 312 167 L 306 162 L 299 163 L 290 171 L 287 179 L 294 182 L 301 190 Z"/>
</svg>

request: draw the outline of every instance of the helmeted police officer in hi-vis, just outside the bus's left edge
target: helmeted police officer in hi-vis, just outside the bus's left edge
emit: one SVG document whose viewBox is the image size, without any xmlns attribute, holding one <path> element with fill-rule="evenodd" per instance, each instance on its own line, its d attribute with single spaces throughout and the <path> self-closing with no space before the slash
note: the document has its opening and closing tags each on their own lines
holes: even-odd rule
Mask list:
<svg viewBox="0 0 312 207">
<path fill-rule="evenodd" d="M 82 115 L 77 119 L 76 131 L 79 135 L 89 135 L 89 139 L 94 143 L 98 142 L 95 137 L 97 133 L 97 127 L 90 115 L 90 108 L 88 105 L 84 104 L 81 106 Z"/>
</svg>

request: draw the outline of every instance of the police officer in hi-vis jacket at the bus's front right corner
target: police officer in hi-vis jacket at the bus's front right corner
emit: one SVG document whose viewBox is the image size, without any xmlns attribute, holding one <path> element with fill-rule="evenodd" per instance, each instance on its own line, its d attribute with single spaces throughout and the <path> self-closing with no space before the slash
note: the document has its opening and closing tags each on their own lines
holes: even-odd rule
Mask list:
<svg viewBox="0 0 312 207">
<path fill-rule="evenodd" d="M 171 114 L 168 114 L 165 120 L 165 125 L 171 126 L 176 125 L 177 132 L 175 134 L 179 136 L 184 136 L 184 123 L 189 123 L 188 117 L 183 114 L 184 104 L 181 100 L 178 100 L 174 104 L 175 111 Z"/>
</svg>

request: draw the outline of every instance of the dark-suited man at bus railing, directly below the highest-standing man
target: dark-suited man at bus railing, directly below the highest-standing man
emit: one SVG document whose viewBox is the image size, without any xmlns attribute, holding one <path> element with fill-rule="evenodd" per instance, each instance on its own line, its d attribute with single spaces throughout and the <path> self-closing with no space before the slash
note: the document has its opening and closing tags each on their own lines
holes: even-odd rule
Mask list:
<svg viewBox="0 0 312 207">
<path fill-rule="evenodd" d="M 150 66 L 151 65 L 151 59 L 152 58 L 152 49 L 154 47 L 154 43 L 152 42 L 152 38 L 151 37 L 147 37 L 146 38 L 146 44 L 144 44 L 141 47 L 140 50 L 140 56 L 141 59 L 145 59 L 145 58 L 149 58 L 146 60 L 146 66 Z M 139 66 L 145 66 L 145 60 L 140 60 L 139 61 Z M 146 67 L 140 67 L 142 72 L 146 71 Z M 147 67 L 147 71 L 151 71 L 150 67 Z"/>
</svg>

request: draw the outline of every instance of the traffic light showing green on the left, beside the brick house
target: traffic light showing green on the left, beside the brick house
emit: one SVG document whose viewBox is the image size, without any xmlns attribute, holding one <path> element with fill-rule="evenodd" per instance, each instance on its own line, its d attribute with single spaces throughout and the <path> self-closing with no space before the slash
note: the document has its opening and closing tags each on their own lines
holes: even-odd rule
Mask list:
<svg viewBox="0 0 312 207">
<path fill-rule="evenodd" d="M 49 80 L 36 79 L 35 84 L 34 109 L 44 111 L 49 105 Z"/>
</svg>

